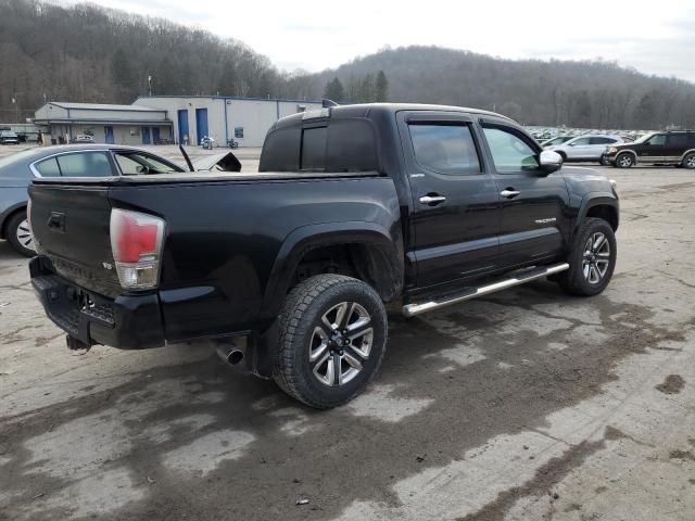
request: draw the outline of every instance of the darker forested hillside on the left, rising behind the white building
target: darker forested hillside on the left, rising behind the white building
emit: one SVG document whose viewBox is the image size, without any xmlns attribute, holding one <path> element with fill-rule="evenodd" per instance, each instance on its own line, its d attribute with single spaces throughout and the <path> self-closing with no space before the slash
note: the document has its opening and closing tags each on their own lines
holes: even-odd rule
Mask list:
<svg viewBox="0 0 695 521">
<path fill-rule="evenodd" d="M 165 20 L 79 4 L 0 0 L 0 120 L 49 100 L 130 103 L 160 94 L 285 93 L 292 80 L 238 41 Z M 16 105 L 12 103 L 16 100 Z"/>
</svg>

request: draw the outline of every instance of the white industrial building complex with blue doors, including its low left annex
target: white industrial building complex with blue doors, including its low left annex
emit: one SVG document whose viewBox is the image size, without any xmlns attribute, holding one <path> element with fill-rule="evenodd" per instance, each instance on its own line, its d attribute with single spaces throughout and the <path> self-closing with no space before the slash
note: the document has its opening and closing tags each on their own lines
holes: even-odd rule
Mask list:
<svg viewBox="0 0 695 521">
<path fill-rule="evenodd" d="M 49 102 L 36 111 L 34 123 L 45 142 L 70 142 L 89 135 L 98 143 L 200 144 L 204 136 L 225 147 L 261 147 L 280 117 L 320 109 L 320 101 L 233 98 L 219 96 L 148 96 L 131 105 Z"/>
</svg>

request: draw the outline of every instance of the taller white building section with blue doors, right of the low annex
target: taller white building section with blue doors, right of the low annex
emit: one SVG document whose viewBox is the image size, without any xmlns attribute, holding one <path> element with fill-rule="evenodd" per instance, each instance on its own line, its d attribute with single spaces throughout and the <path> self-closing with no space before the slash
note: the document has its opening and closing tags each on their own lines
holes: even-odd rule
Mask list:
<svg viewBox="0 0 695 521">
<path fill-rule="evenodd" d="M 166 111 L 174 124 L 176 142 L 200 144 L 212 137 L 224 145 L 233 139 L 239 147 L 261 147 L 270 126 L 280 117 L 320 109 L 320 101 L 232 98 L 218 96 L 146 96 L 134 105 Z"/>
</svg>

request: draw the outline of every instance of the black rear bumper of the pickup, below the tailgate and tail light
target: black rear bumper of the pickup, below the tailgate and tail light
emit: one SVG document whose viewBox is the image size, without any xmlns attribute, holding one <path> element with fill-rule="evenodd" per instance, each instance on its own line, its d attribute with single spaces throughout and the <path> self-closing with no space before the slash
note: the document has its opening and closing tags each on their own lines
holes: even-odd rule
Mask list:
<svg viewBox="0 0 695 521">
<path fill-rule="evenodd" d="M 29 262 L 31 285 L 46 315 L 87 346 L 142 350 L 164 345 L 164 325 L 156 294 L 108 298 L 52 272 L 41 257 Z"/>
</svg>

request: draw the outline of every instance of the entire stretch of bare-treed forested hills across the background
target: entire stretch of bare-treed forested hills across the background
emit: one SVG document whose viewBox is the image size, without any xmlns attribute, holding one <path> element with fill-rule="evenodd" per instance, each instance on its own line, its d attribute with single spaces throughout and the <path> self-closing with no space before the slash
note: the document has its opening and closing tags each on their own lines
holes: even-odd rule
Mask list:
<svg viewBox="0 0 695 521">
<path fill-rule="evenodd" d="M 412 101 L 496 110 L 525 124 L 695 127 L 695 84 L 608 62 L 511 61 L 435 47 L 386 49 L 318 74 L 280 72 L 236 40 L 79 4 L 0 0 L 0 122 L 49 100 L 156 94 Z M 13 102 L 13 100 L 15 102 Z"/>
</svg>

